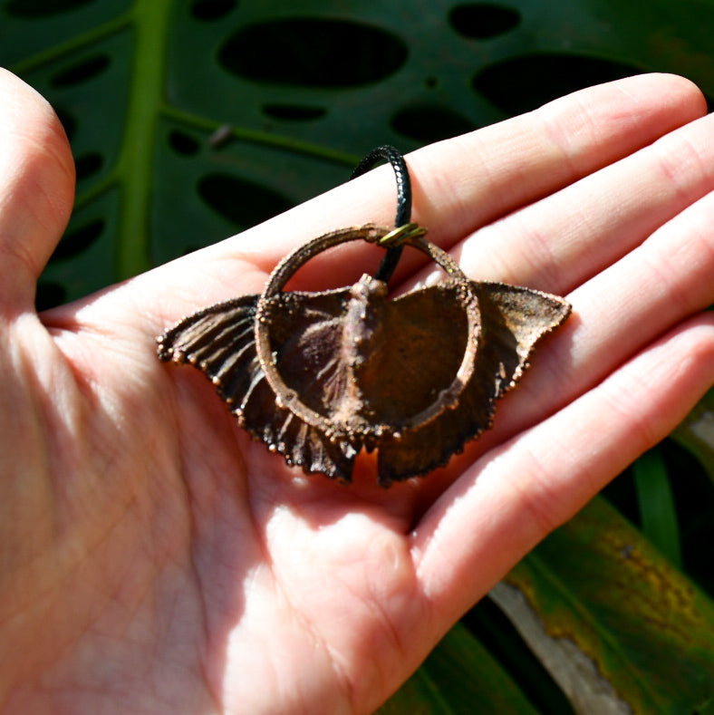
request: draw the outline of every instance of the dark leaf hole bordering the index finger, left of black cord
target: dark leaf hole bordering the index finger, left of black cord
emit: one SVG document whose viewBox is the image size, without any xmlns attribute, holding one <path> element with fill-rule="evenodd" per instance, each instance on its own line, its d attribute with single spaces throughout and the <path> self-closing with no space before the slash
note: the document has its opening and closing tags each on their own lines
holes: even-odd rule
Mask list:
<svg viewBox="0 0 714 715">
<path fill-rule="evenodd" d="M 293 203 L 272 188 L 230 174 L 209 174 L 198 183 L 198 194 L 220 216 L 239 229 L 283 213 Z"/>
</svg>

